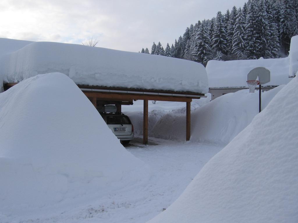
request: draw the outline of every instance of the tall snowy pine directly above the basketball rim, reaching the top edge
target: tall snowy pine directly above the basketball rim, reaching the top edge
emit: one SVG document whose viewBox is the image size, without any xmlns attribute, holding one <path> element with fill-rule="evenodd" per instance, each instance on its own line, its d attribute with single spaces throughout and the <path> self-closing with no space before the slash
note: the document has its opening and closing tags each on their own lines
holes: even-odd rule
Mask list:
<svg viewBox="0 0 298 223">
<path fill-rule="evenodd" d="M 246 15 L 245 24 L 245 54 L 247 59 L 259 59 L 258 52 L 261 48 L 260 26 L 258 25 L 257 0 L 251 1 Z"/>
</svg>

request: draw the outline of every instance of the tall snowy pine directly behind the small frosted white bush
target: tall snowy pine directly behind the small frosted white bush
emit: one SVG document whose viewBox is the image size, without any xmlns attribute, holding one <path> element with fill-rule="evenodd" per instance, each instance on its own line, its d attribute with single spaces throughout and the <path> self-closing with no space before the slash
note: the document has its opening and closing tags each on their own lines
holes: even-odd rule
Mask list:
<svg viewBox="0 0 298 223">
<path fill-rule="evenodd" d="M 215 18 L 213 36 L 212 36 L 212 48 L 214 51 L 221 51 L 223 54 L 226 53 L 226 29 L 223 22 L 224 16 L 219 11 Z"/>
</svg>

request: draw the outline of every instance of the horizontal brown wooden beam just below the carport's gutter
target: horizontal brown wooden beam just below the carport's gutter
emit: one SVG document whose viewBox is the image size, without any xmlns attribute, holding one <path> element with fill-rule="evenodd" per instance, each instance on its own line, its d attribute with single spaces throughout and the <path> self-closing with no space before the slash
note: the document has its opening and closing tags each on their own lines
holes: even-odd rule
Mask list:
<svg viewBox="0 0 298 223">
<path fill-rule="evenodd" d="M 189 98 L 189 97 L 116 94 L 116 93 L 87 92 L 87 91 L 83 91 L 83 93 L 88 98 L 96 97 L 100 100 L 113 100 L 113 101 L 132 101 L 132 100 L 156 100 L 156 101 L 178 101 L 178 102 L 191 102 L 192 101 L 192 98 Z"/>
</svg>

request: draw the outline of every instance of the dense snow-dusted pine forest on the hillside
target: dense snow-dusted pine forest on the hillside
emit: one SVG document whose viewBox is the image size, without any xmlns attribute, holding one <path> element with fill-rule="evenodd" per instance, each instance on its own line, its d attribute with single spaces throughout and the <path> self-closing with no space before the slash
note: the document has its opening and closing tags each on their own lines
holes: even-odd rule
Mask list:
<svg viewBox="0 0 298 223">
<path fill-rule="evenodd" d="M 151 54 L 193 60 L 279 58 L 298 34 L 298 0 L 248 0 L 243 7 L 198 21 L 165 49 L 153 42 Z M 148 48 L 141 53 L 150 54 Z"/>
</svg>

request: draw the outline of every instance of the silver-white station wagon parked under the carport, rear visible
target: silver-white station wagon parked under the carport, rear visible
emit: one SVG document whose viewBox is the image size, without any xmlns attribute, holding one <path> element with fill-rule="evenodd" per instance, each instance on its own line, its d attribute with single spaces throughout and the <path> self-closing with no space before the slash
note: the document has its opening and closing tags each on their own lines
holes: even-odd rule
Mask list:
<svg viewBox="0 0 298 223">
<path fill-rule="evenodd" d="M 103 120 L 122 144 L 134 139 L 134 126 L 129 117 L 122 113 L 101 113 Z"/>
</svg>

